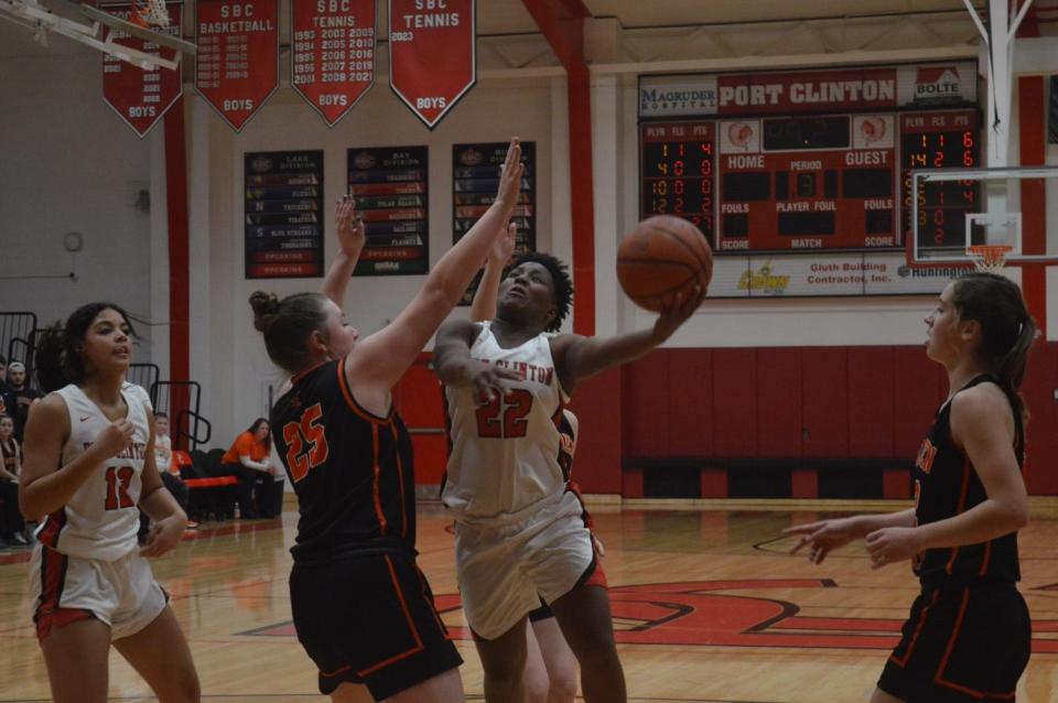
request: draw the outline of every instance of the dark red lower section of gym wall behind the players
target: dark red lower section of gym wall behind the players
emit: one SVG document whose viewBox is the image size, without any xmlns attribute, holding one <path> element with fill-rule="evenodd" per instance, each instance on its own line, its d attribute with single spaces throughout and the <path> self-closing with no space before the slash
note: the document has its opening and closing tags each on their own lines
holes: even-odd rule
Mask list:
<svg viewBox="0 0 1058 703">
<path fill-rule="evenodd" d="M 446 439 L 438 379 L 423 355 L 397 389 L 413 433 L 417 483 L 441 483 Z M 1038 344 L 1022 388 L 1028 424 L 1028 490 L 1058 494 L 1058 344 Z M 576 389 L 575 474 L 585 493 L 641 497 L 628 459 L 914 459 L 948 390 L 920 346 L 659 349 Z M 634 462 L 631 462 L 634 463 Z M 722 462 L 721 462 L 722 464 Z M 714 482 L 710 485 L 710 482 Z M 702 473 L 702 495 L 725 483 Z M 795 468 L 795 494 L 798 474 Z M 906 480 L 886 477 L 886 496 Z M 895 487 L 895 488 L 894 488 Z"/>
</svg>

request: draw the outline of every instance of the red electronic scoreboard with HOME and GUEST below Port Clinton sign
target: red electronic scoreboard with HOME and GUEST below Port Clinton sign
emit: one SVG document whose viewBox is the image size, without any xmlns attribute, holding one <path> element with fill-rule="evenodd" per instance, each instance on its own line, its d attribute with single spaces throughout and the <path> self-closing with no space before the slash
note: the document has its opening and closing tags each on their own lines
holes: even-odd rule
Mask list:
<svg viewBox="0 0 1058 703">
<path fill-rule="evenodd" d="M 974 109 L 640 125 L 640 215 L 685 217 L 720 252 L 893 250 L 911 232 L 910 170 L 980 163 Z M 922 248 L 961 247 L 971 183 L 927 184 Z"/>
</svg>

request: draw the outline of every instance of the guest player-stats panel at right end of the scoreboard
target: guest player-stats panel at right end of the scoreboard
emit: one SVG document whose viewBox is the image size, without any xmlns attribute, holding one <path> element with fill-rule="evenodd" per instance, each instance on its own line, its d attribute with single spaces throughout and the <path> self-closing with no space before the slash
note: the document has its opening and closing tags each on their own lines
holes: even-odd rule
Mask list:
<svg viewBox="0 0 1058 703">
<path fill-rule="evenodd" d="M 911 170 L 975 169 L 981 163 L 978 112 L 915 112 L 900 116 L 904 236 L 914 232 Z M 918 248 L 962 250 L 967 214 L 980 213 L 980 181 L 922 183 L 918 193 Z"/>
</svg>

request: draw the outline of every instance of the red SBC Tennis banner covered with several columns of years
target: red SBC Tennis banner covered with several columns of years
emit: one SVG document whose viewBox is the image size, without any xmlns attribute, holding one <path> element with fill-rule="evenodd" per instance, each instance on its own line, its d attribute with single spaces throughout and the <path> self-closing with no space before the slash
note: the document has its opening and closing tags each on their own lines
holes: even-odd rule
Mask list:
<svg viewBox="0 0 1058 703">
<path fill-rule="evenodd" d="M 290 83 L 327 127 L 375 85 L 375 0 L 291 0 Z"/>
</svg>

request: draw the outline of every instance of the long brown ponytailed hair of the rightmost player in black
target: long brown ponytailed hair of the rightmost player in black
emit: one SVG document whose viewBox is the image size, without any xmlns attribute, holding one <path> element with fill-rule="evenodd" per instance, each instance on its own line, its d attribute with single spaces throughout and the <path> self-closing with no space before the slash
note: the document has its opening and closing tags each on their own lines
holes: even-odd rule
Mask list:
<svg viewBox="0 0 1058 703">
<path fill-rule="evenodd" d="M 1037 332 L 1022 290 L 1005 277 L 974 271 L 956 280 L 952 302 L 960 320 L 981 324 L 981 355 L 1024 414 L 1018 391 Z"/>
</svg>

